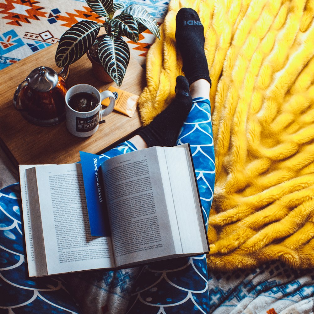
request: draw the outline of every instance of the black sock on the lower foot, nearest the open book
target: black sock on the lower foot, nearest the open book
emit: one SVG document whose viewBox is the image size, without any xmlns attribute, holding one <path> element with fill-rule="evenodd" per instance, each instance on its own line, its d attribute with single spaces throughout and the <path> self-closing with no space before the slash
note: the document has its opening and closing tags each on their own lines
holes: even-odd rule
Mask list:
<svg viewBox="0 0 314 314">
<path fill-rule="evenodd" d="M 176 79 L 176 97 L 152 122 L 138 132 L 148 147 L 174 146 L 183 122 L 192 108 L 189 83 L 184 76 Z"/>
</svg>

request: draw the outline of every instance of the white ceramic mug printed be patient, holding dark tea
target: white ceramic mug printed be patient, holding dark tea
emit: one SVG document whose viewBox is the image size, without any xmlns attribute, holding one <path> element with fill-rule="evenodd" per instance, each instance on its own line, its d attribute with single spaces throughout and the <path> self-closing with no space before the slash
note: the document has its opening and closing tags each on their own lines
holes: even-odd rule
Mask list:
<svg viewBox="0 0 314 314">
<path fill-rule="evenodd" d="M 69 106 L 69 99 L 78 93 L 89 93 L 95 95 L 98 99 L 96 107 L 87 112 L 80 112 L 72 109 Z M 110 104 L 105 109 L 101 110 L 101 101 L 109 97 Z M 113 111 L 115 106 L 115 96 L 109 90 L 99 92 L 94 86 L 89 84 L 77 84 L 68 89 L 65 95 L 66 102 L 66 124 L 68 131 L 78 137 L 88 137 L 94 134 L 99 127 L 99 123 Z"/>
</svg>

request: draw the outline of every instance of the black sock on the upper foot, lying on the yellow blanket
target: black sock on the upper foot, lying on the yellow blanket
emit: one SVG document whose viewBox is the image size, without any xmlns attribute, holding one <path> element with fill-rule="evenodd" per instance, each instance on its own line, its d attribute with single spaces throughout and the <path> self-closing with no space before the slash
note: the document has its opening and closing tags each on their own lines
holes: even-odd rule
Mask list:
<svg viewBox="0 0 314 314">
<path fill-rule="evenodd" d="M 204 27 L 197 12 L 191 8 L 181 8 L 176 15 L 176 43 L 189 84 L 204 78 L 211 85 L 204 52 Z"/>
</svg>

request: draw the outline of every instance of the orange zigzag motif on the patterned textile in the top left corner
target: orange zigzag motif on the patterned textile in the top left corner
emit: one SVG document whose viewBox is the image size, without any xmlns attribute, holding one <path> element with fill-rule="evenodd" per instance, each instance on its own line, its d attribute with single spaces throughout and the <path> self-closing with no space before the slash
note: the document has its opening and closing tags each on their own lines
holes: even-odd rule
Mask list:
<svg viewBox="0 0 314 314">
<path fill-rule="evenodd" d="M 2 19 L 8 19 L 6 24 L 22 26 L 21 23 L 30 24 L 30 20 L 40 20 L 39 17 L 46 17 L 47 12 L 41 11 L 43 7 L 37 6 L 39 1 L 33 0 L 5 0 L 0 3 L 0 13 L 6 14 Z"/>
</svg>

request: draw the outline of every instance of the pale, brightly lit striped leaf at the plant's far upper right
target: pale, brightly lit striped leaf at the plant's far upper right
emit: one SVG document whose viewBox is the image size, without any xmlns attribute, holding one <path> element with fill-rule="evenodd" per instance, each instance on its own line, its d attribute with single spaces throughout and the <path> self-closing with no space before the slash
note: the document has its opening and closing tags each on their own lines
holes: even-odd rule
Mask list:
<svg viewBox="0 0 314 314">
<path fill-rule="evenodd" d="M 160 30 L 157 21 L 151 16 L 148 11 L 140 4 L 131 4 L 125 8 L 122 14 L 130 14 L 134 17 L 138 24 L 139 33 L 149 29 L 152 34 L 160 39 Z"/>
</svg>

